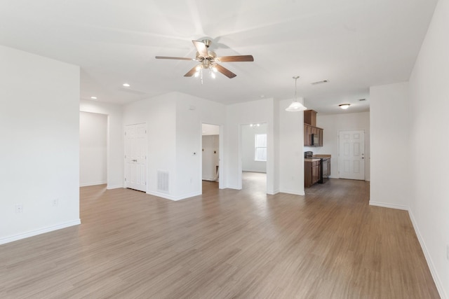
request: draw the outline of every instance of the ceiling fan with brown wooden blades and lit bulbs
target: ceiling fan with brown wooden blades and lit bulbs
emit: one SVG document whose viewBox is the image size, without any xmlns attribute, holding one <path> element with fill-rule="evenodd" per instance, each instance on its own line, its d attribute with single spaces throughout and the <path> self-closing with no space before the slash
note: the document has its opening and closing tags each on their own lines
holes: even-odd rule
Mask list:
<svg viewBox="0 0 449 299">
<path fill-rule="evenodd" d="M 203 39 L 203 41 L 192 41 L 196 48 L 196 57 L 195 58 L 187 58 L 187 57 L 167 57 L 167 56 L 156 56 L 156 59 L 163 60 L 194 60 L 199 62 L 198 65 L 192 67 L 190 71 L 184 75 L 185 77 L 199 76 L 199 74 L 203 71 L 203 69 L 210 69 L 213 72 L 219 71 L 223 75 L 228 78 L 234 78 L 237 76 L 229 69 L 222 67 L 217 62 L 251 62 L 254 61 L 253 55 L 236 55 L 236 56 L 221 56 L 217 57 L 215 52 L 208 50 L 211 41 L 208 39 Z M 213 73 L 211 73 L 213 74 Z M 215 76 L 215 74 L 213 74 Z"/>
</svg>

